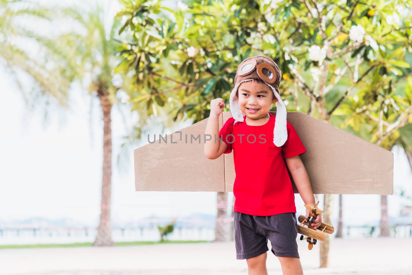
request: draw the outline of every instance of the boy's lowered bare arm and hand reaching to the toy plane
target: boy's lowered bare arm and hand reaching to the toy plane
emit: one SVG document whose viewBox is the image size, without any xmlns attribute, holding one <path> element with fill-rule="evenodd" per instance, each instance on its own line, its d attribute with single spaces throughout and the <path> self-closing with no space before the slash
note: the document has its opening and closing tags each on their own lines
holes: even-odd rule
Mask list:
<svg viewBox="0 0 412 275">
<path fill-rule="evenodd" d="M 285 158 L 286 165 L 288 165 L 288 169 L 290 174 L 293 177 L 293 181 L 295 182 L 297 191 L 299 192 L 302 200 L 307 205 L 315 205 L 315 196 L 312 191 L 312 186 L 309 181 L 309 176 L 306 171 L 306 168 L 300 159 L 300 156 L 292 156 L 290 158 Z M 309 210 L 306 210 L 306 216 L 309 216 Z M 312 226 L 316 229 L 322 223 L 322 216 L 321 214 L 316 215 L 316 219 Z"/>
</svg>

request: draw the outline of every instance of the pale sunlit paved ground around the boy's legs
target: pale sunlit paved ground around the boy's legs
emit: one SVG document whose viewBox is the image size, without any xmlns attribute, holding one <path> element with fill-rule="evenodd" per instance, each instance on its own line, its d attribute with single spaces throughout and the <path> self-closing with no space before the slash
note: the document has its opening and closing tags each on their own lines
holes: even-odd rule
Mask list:
<svg viewBox="0 0 412 275">
<path fill-rule="evenodd" d="M 319 246 L 298 241 L 304 273 L 332 275 L 411 275 L 412 238 L 332 240 L 330 267 L 319 265 Z M 269 244 L 270 245 L 270 244 Z M 269 274 L 282 274 L 269 252 Z M 247 275 L 236 260 L 234 242 L 0 249 L 0 274 L 10 275 Z"/>
</svg>

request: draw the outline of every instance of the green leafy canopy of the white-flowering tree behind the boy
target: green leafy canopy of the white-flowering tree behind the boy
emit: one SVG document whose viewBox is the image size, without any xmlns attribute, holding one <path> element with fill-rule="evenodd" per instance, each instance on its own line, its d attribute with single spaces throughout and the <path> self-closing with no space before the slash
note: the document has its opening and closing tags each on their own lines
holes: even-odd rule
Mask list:
<svg viewBox="0 0 412 275">
<path fill-rule="evenodd" d="M 335 2 L 315 5 L 292 0 L 278 2 L 277 7 L 247 0 L 186 4 L 184 12 L 143 4 L 122 11 L 124 16 L 134 15 L 133 21 L 126 21 L 129 27 L 124 32 L 136 39 L 130 42 L 131 51 L 122 52 L 126 59 L 120 68 L 127 71 L 128 64 L 135 61 L 134 89 L 152 93 L 149 98 L 155 107 L 147 105 L 149 98 L 142 101 L 153 111 L 169 108 L 165 99 L 172 97 L 173 103 L 180 103 L 170 107 L 173 114 L 178 110 L 175 119 L 186 112 L 201 120 L 208 114 L 206 105 L 210 100 L 229 98 L 239 63 L 258 55 L 272 58 L 281 68 L 283 99 L 294 103 L 295 93 L 300 96 L 296 98 L 297 106 L 290 108 L 308 110 L 304 96 L 311 93 L 328 110 L 339 103 L 333 115 L 346 118 L 345 125 L 363 137 L 370 131 L 369 138 L 378 138 L 374 118 L 379 118 L 380 103 L 386 100 L 382 118 L 388 123 L 411 103 L 412 84 L 403 83 L 401 88 L 400 84 L 395 85 L 410 71 L 412 63 L 412 59 L 407 59 L 410 20 L 403 19 L 406 28 L 402 29 L 386 22 L 395 11 L 394 2 L 370 5 L 350 0 L 338 6 Z M 405 1 L 396 4 L 405 5 Z M 167 12 L 172 19 L 162 14 L 155 20 L 148 18 L 148 14 L 159 11 Z M 321 49 L 327 45 L 328 55 L 309 54 L 312 45 Z M 315 81 L 316 76 L 319 81 Z M 147 79 L 152 86 L 145 86 Z M 162 97 L 157 91 L 167 92 Z M 400 93 L 401 98 L 396 98 Z"/>
</svg>

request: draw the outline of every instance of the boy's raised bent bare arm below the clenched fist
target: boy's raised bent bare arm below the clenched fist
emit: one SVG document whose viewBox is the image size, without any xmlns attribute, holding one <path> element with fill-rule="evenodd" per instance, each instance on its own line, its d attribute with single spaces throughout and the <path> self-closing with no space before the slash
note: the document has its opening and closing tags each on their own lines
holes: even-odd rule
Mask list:
<svg viewBox="0 0 412 275">
<path fill-rule="evenodd" d="M 205 141 L 204 144 L 204 154 L 206 158 L 218 158 L 227 149 L 225 142 L 222 142 L 218 139 L 216 139 L 215 142 L 215 137 L 218 137 L 219 135 L 219 116 L 210 114 L 205 130 L 205 136 L 206 135 L 211 135 L 212 137 L 211 140 Z"/>
</svg>

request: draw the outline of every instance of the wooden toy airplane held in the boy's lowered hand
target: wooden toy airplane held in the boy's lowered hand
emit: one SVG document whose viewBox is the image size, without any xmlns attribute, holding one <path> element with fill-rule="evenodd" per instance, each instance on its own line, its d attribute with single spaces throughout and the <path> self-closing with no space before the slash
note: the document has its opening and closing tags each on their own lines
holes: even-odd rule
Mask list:
<svg viewBox="0 0 412 275">
<path fill-rule="evenodd" d="M 305 204 L 305 207 L 310 212 L 309 217 L 305 219 L 305 216 L 300 215 L 297 218 L 297 220 L 300 222 L 300 224 L 297 225 L 297 232 L 299 234 L 302 234 L 300 236 L 300 240 L 307 240 L 307 242 L 309 243 L 309 250 L 312 249 L 313 245 L 316 245 L 317 240 L 325 240 L 325 233 L 332 234 L 335 231 L 335 228 L 333 228 L 333 226 L 331 226 L 330 224 L 321 223 L 321 225 L 318 226 L 318 228 L 316 229 L 314 229 L 314 227 L 311 226 L 311 224 L 316 219 L 316 215 L 323 213 L 323 210 L 318 209 L 318 204 L 319 201 L 314 206 L 309 206 Z M 304 227 L 305 225 L 307 227 Z M 321 231 L 319 232 L 318 229 Z M 304 237 L 304 235 L 306 237 Z"/>
</svg>

